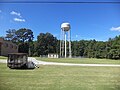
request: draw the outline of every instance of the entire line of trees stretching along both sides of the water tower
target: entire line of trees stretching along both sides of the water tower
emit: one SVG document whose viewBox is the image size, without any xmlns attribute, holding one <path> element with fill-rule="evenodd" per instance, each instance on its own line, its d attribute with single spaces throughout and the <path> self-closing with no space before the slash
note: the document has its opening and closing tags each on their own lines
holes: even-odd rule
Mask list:
<svg viewBox="0 0 120 90">
<path fill-rule="evenodd" d="M 30 29 L 9 29 L 4 38 L 16 43 L 19 46 L 18 52 L 28 53 L 29 56 L 59 54 L 60 40 L 48 32 L 40 33 L 34 41 Z M 74 57 L 120 59 L 120 35 L 108 41 L 79 40 L 71 41 L 71 44 Z"/>
</svg>

